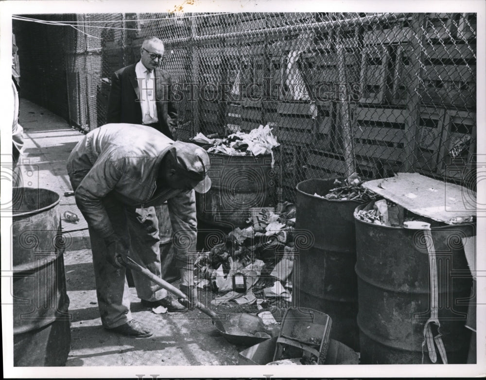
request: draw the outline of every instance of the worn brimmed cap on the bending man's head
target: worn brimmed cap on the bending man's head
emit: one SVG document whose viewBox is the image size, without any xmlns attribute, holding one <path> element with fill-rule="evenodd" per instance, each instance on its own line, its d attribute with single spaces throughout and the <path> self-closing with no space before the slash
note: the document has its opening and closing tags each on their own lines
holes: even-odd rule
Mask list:
<svg viewBox="0 0 486 380">
<path fill-rule="evenodd" d="M 208 153 L 196 144 L 182 141 L 175 141 L 169 150 L 175 158 L 179 173 L 199 181 L 194 190 L 199 193 L 207 192 L 211 187 Z"/>
</svg>

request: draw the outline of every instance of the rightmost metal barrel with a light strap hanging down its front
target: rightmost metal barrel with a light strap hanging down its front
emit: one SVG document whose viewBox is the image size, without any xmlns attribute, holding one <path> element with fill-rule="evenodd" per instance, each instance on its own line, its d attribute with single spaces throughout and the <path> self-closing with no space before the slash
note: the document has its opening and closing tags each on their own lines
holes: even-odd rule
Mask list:
<svg viewBox="0 0 486 380">
<path fill-rule="evenodd" d="M 357 207 L 356 212 L 364 207 Z M 431 313 L 423 232 L 357 218 L 355 224 L 361 363 L 420 364 L 423 329 Z M 442 340 L 449 363 L 466 363 L 470 330 L 465 323 L 472 277 L 461 239 L 475 235 L 475 225 L 432 221 L 431 226 Z M 427 346 L 423 360 L 431 363 Z"/>
</svg>

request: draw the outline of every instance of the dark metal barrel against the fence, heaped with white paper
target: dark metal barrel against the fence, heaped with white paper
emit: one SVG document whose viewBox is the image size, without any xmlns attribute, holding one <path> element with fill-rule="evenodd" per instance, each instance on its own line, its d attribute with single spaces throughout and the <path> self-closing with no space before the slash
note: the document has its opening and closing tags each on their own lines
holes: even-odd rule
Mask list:
<svg viewBox="0 0 486 380">
<path fill-rule="evenodd" d="M 271 155 L 208 155 L 212 185 L 207 193 L 197 193 L 198 219 L 225 229 L 246 225 L 250 207 L 265 207 L 271 202 L 276 177 Z"/>
</svg>

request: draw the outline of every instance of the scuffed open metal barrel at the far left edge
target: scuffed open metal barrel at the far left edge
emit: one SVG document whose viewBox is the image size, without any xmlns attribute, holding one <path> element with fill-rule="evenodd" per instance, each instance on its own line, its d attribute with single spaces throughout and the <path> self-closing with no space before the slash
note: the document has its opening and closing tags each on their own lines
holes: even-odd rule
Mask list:
<svg viewBox="0 0 486 380">
<path fill-rule="evenodd" d="M 60 197 L 14 188 L 14 366 L 62 366 L 71 344 Z"/>
</svg>

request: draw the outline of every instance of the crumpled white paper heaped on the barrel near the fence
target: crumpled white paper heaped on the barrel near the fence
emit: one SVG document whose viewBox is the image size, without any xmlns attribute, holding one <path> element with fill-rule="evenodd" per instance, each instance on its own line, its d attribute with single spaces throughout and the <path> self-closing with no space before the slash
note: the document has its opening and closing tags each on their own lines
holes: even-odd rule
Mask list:
<svg viewBox="0 0 486 380">
<path fill-rule="evenodd" d="M 208 153 L 224 155 L 272 155 L 272 149 L 280 145 L 272 134 L 272 128 L 267 124 L 260 125 L 249 133 L 236 132 L 226 138 L 208 138 L 198 133 L 192 141 L 211 145 Z"/>
</svg>

